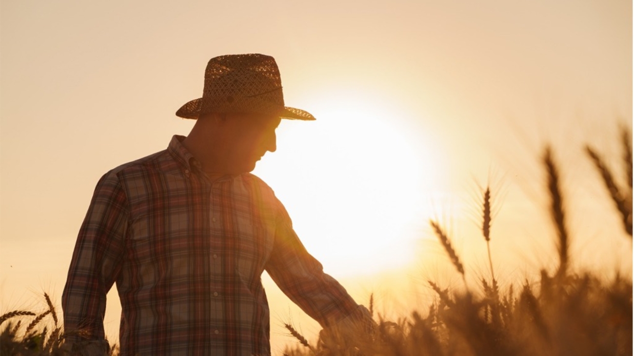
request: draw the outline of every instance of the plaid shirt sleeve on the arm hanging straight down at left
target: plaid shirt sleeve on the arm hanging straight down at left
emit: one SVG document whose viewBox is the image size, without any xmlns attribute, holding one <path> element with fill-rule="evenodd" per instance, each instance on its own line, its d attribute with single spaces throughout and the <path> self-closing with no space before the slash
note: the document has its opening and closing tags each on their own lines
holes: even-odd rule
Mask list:
<svg viewBox="0 0 634 356">
<path fill-rule="evenodd" d="M 106 295 L 119 275 L 129 213 L 124 189 L 113 172 L 98 182 L 79 230 L 62 295 L 67 343 L 107 343 L 103 331 Z"/>
</svg>

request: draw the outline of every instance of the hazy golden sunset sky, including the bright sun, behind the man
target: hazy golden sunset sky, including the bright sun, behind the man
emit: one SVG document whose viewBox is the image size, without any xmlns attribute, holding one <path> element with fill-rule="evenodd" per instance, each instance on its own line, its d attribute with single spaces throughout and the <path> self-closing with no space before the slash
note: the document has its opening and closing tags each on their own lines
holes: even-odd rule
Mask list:
<svg viewBox="0 0 634 356">
<path fill-rule="evenodd" d="M 359 303 L 374 292 L 390 312 L 396 296 L 430 295 L 426 279 L 456 285 L 430 219 L 446 226 L 477 281 L 488 184 L 502 283 L 552 268 L 547 144 L 561 165 L 573 265 L 631 274 L 631 239 L 583 154 L 592 144 L 621 172 L 630 1 L 2 0 L 2 310 L 37 307 L 44 291 L 60 302 L 98 179 L 186 135 L 193 121 L 175 111 L 202 94 L 209 58 L 230 53 L 274 56 L 287 105 L 317 118 L 284 120 L 278 150 L 254 174 Z M 274 352 L 290 340 L 280 321 L 314 333 L 264 283 Z M 108 303 L 115 336 L 115 294 Z"/>
</svg>

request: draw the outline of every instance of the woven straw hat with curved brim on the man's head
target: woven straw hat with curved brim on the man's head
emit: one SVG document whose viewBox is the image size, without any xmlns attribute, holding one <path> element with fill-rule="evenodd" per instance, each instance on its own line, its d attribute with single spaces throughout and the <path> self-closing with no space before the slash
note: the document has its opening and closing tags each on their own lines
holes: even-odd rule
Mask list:
<svg viewBox="0 0 634 356">
<path fill-rule="evenodd" d="M 181 106 L 176 115 L 197 119 L 202 113 L 264 113 L 314 120 L 304 110 L 284 106 L 280 70 L 264 54 L 228 54 L 209 60 L 202 98 Z"/>
</svg>

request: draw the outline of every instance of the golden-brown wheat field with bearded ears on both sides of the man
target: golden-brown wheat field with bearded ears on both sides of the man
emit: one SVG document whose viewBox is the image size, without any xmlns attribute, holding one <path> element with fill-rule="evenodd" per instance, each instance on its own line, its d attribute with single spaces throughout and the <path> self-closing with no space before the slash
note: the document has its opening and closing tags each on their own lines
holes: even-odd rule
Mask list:
<svg viewBox="0 0 634 356">
<path fill-rule="evenodd" d="M 622 130 L 626 186 L 595 148 L 585 151 L 597 168 L 606 198 L 614 203 L 624 231 L 632 234 L 632 148 L 631 132 Z M 566 200 L 559 181 L 559 167 L 550 148 L 542 156 L 545 189 L 550 196 L 548 210 L 557 232 L 554 245 L 559 266 L 549 274 L 541 270 L 538 286 L 528 281 L 511 284 L 501 291 L 491 262 L 491 194 L 482 194 L 482 236 L 487 244 L 491 279 L 481 279 L 481 291 L 452 292 L 428 281 L 437 295 L 427 310 L 413 310 L 398 321 L 378 315 L 376 323 L 362 333 L 323 330 L 311 345 L 290 324 L 285 327 L 298 342 L 285 356 L 453 356 L 453 355 L 632 355 L 632 281 L 618 274 L 605 281 L 591 272 L 574 274 L 569 268 L 570 239 L 566 225 Z M 434 234 L 451 263 L 465 281 L 465 269 L 450 236 L 436 221 Z M 631 241 L 631 240 L 630 240 Z M 465 282 L 465 287 L 467 286 Z M 481 296 L 483 295 L 483 296 Z M 13 310 L 0 316 L 0 355 L 68 355 L 66 334 L 59 325 L 53 303 L 44 294 L 44 310 Z M 373 296 L 370 315 L 374 317 Z M 110 355 L 117 355 L 113 346 Z"/>
</svg>

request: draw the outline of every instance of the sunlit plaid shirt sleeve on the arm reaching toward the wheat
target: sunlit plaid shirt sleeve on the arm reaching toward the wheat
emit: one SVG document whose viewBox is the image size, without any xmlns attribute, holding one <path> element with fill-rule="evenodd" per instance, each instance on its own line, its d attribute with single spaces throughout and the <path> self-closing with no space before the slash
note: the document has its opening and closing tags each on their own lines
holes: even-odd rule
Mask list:
<svg viewBox="0 0 634 356">
<path fill-rule="evenodd" d="M 306 251 L 281 203 L 266 270 L 281 291 L 322 327 L 335 326 L 358 310 L 346 289 L 325 274 L 320 262 Z"/>
</svg>

